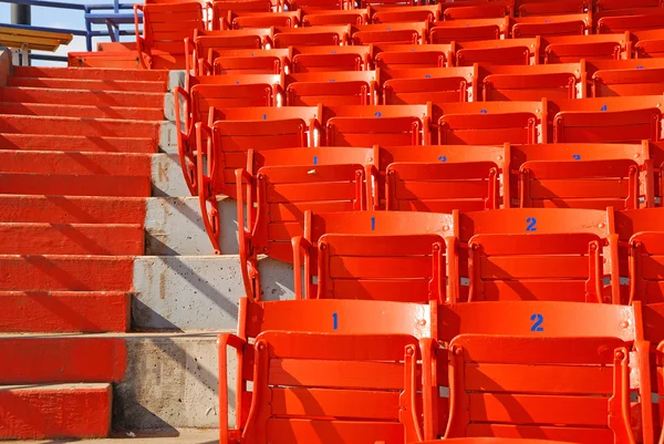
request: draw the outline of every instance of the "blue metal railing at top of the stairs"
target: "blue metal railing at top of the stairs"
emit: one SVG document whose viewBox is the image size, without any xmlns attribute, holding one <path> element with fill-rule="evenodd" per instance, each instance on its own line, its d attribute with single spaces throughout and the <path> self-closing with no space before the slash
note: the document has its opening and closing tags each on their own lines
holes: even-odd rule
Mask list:
<svg viewBox="0 0 664 444">
<path fill-rule="evenodd" d="M 134 2 L 123 2 L 123 0 L 113 0 L 113 3 L 74 4 L 44 0 L 0 0 L 0 3 L 24 4 L 29 7 L 43 7 L 81 11 L 83 13 L 83 19 L 85 20 L 84 30 L 33 27 L 28 24 L 0 24 L 7 28 L 29 29 L 33 31 L 46 32 L 66 32 L 74 35 L 81 35 L 85 38 L 85 45 L 87 48 L 87 51 L 92 51 L 93 38 L 111 38 L 112 41 L 116 42 L 120 40 L 121 35 L 134 35 Z M 103 24 L 106 28 L 93 29 L 93 25 L 100 24 Z M 128 24 L 131 27 L 127 27 L 129 29 L 123 29 L 123 24 Z M 35 60 L 66 62 L 66 58 L 61 55 L 32 54 L 31 58 Z"/>
</svg>

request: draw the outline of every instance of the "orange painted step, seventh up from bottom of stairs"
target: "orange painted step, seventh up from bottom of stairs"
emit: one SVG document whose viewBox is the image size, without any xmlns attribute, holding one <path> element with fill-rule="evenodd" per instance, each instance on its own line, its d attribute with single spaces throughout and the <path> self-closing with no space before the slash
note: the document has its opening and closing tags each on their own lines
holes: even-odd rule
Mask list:
<svg viewBox="0 0 664 444">
<path fill-rule="evenodd" d="M 149 197 L 149 177 L 0 173 L 0 194 Z"/>
</svg>

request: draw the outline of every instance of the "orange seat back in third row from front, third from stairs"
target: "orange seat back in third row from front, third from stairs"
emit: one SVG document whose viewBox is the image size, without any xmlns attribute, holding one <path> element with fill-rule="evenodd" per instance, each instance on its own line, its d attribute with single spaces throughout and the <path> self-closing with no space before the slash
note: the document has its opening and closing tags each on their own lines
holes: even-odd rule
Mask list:
<svg viewBox="0 0 664 444">
<path fill-rule="evenodd" d="M 649 151 L 645 144 L 521 145 L 510 147 L 509 158 L 518 174 L 519 207 L 635 209 Z"/>
</svg>

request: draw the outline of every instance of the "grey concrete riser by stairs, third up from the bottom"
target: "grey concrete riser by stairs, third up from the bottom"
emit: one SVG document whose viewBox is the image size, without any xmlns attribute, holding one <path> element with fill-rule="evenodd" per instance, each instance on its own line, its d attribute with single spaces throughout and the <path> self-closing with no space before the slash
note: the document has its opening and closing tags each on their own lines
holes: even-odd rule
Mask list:
<svg viewBox="0 0 664 444">
<path fill-rule="evenodd" d="M 238 254 L 236 202 L 220 197 L 219 242 L 225 255 Z M 203 224 L 198 197 L 153 197 L 147 199 L 145 254 L 148 256 L 214 255 Z"/>
</svg>

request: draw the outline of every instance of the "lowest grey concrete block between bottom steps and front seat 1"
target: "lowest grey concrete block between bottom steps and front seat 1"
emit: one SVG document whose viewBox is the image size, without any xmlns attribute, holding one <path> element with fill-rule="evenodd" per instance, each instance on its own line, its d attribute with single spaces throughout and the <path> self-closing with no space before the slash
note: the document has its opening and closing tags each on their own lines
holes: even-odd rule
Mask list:
<svg viewBox="0 0 664 444">
<path fill-rule="evenodd" d="M 176 435 L 179 428 L 218 427 L 216 333 L 134 333 L 126 343 L 127 370 L 113 393 L 114 431 Z"/>
</svg>

